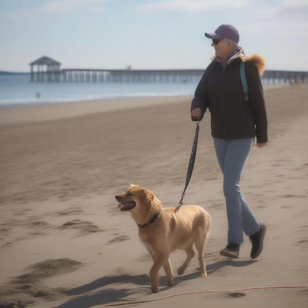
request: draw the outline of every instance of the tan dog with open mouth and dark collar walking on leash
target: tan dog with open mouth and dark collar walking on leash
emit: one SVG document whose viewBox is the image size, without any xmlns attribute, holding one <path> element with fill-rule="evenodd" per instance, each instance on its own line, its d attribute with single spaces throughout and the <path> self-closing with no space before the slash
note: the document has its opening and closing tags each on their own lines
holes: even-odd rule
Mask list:
<svg viewBox="0 0 308 308">
<path fill-rule="evenodd" d="M 149 273 L 153 293 L 158 292 L 158 272 L 162 265 L 168 285 L 174 285 L 170 253 L 176 249 L 186 252 L 187 259 L 178 268 L 181 275 L 195 255 L 192 248 L 194 243 L 199 254 L 201 276 L 207 276 L 203 252 L 209 234 L 210 216 L 205 209 L 197 205 L 184 205 L 175 214 L 174 207 L 163 208 L 151 191 L 132 184 L 115 199 L 120 203 L 119 209 L 130 211 L 139 226 L 139 237 L 153 259 Z"/>
</svg>

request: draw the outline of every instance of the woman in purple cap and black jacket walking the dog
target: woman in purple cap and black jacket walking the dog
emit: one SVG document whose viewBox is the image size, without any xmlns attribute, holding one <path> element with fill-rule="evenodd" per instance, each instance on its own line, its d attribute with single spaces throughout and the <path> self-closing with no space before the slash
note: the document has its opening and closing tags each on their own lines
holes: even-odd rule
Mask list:
<svg viewBox="0 0 308 308">
<path fill-rule="evenodd" d="M 207 108 L 211 115 L 211 136 L 223 172 L 228 219 L 228 242 L 220 254 L 239 258 L 244 231 L 252 242 L 251 258 L 255 259 L 262 252 L 266 227 L 259 224 L 243 198 L 240 177 L 255 137 L 257 147 L 267 144 L 267 117 L 260 80 L 265 61 L 257 54 L 244 55 L 238 46 L 239 32 L 232 25 L 221 25 L 205 36 L 212 40 L 215 57 L 196 88 L 190 112 L 193 121 L 202 120 Z M 249 101 L 244 101 L 241 62 L 244 62 Z"/>
</svg>

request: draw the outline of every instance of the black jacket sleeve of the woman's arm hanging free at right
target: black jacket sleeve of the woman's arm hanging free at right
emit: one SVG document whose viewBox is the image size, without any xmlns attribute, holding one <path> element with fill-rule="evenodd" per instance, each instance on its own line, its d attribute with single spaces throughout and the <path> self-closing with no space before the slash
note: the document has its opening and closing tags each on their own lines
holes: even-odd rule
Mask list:
<svg viewBox="0 0 308 308">
<path fill-rule="evenodd" d="M 253 63 L 246 62 L 245 67 L 247 67 L 245 74 L 248 85 L 249 105 L 254 114 L 257 142 L 267 142 L 267 116 L 261 79 Z"/>
</svg>

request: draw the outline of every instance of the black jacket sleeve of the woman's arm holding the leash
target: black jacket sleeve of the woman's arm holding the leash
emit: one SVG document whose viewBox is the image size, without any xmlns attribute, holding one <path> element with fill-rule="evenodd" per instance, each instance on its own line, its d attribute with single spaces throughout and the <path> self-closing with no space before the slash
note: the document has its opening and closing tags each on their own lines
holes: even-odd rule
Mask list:
<svg viewBox="0 0 308 308">
<path fill-rule="evenodd" d="M 207 93 L 207 79 L 208 79 L 208 67 L 206 68 L 205 72 L 202 75 L 202 78 L 196 88 L 195 91 L 195 97 L 191 101 L 190 106 L 190 113 L 195 108 L 201 108 L 201 119 L 203 119 L 203 115 L 206 111 L 206 108 L 209 106 L 209 99 L 208 99 L 208 93 Z M 197 121 L 196 119 L 191 117 L 192 121 Z"/>
</svg>

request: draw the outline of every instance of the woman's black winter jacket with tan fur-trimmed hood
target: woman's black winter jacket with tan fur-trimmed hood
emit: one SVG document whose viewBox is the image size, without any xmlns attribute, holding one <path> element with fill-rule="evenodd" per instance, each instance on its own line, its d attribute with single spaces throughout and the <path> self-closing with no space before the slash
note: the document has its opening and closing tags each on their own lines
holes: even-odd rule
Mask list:
<svg viewBox="0 0 308 308">
<path fill-rule="evenodd" d="M 241 61 L 245 62 L 249 102 L 244 101 Z M 267 117 L 260 80 L 264 68 L 265 61 L 257 54 L 246 57 L 239 53 L 224 68 L 217 60 L 209 64 L 196 88 L 190 112 L 201 108 L 202 120 L 206 109 L 209 109 L 211 136 L 222 139 L 256 136 L 257 142 L 267 142 Z"/>
</svg>

